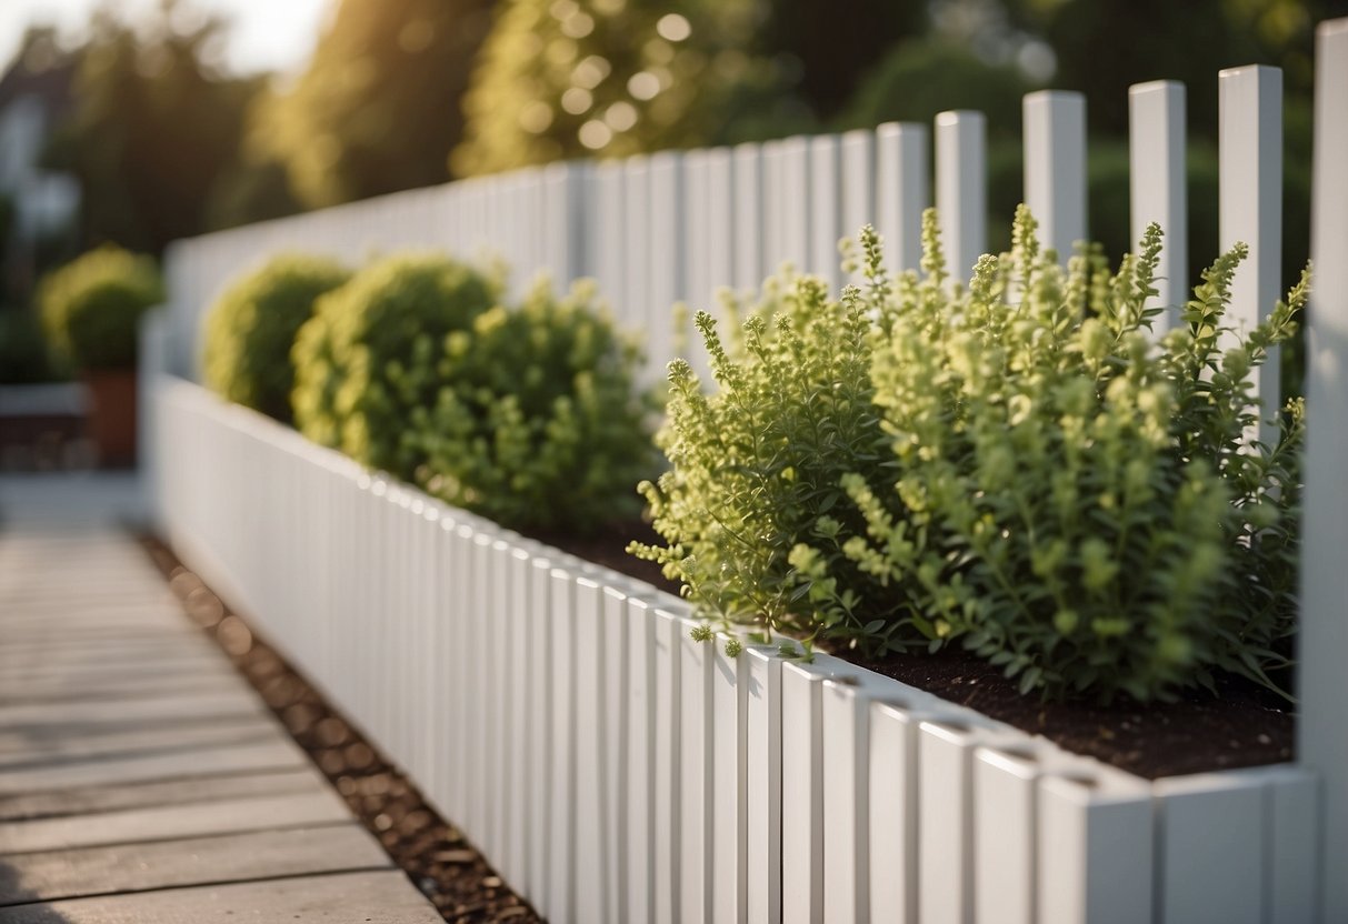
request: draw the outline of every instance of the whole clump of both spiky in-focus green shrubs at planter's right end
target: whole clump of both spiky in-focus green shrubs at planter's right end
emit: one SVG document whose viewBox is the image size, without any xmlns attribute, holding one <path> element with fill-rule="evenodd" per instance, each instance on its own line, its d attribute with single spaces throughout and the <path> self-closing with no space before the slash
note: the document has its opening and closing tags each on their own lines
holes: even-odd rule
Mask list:
<svg viewBox="0 0 1348 924">
<path fill-rule="evenodd" d="M 671 471 L 643 490 L 662 548 L 634 546 L 725 620 L 864 653 L 958 642 L 1022 691 L 1146 700 L 1229 671 L 1271 686 L 1295 617 L 1301 403 L 1251 444 L 1250 372 L 1289 339 L 1306 282 L 1223 350 L 1236 248 L 1159 342 L 1161 232 L 1113 275 L 1058 265 L 1018 213 L 1010 253 L 952 280 L 936 220 L 923 272 L 867 291 L 798 284 L 718 389 L 671 365 Z"/>
</svg>

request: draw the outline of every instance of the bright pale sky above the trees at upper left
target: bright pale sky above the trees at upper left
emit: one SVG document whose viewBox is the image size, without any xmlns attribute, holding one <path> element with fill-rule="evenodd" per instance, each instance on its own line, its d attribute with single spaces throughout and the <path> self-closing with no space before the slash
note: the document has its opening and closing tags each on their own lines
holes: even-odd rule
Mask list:
<svg viewBox="0 0 1348 924">
<path fill-rule="evenodd" d="M 248 74 L 303 66 L 336 1 L 183 0 L 183 5 L 233 22 L 225 63 L 233 73 Z M 98 5 L 100 0 L 0 0 L 0 71 L 8 67 L 31 23 L 55 23 L 62 35 L 75 38 Z M 111 5 L 123 20 L 136 22 L 155 13 L 159 0 L 111 0 Z"/>
</svg>

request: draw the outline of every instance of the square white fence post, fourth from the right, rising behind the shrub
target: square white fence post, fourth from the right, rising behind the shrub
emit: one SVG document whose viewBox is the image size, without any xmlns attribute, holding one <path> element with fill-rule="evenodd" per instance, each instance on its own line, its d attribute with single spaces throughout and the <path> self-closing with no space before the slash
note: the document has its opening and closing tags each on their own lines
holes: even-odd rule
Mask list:
<svg viewBox="0 0 1348 924">
<path fill-rule="evenodd" d="M 1066 265 L 1086 238 L 1086 98 L 1041 90 L 1024 97 L 1024 201 L 1039 240 Z"/>
</svg>

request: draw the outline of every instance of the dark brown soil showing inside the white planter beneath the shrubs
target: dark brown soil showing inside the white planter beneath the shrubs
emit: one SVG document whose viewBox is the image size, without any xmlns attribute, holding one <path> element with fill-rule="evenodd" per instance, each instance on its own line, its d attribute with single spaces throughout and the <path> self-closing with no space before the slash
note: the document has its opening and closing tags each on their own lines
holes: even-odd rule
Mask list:
<svg viewBox="0 0 1348 924">
<path fill-rule="evenodd" d="M 658 566 L 623 551 L 634 539 L 663 544 L 646 523 L 620 524 L 582 540 L 535 537 L 678 594 L 678 583 L 666 581 Z M 1220 696 L 1197 690 L 1175 703 L 1097 706 L 1022 696 L 1000 669 L 962 651 L 898 655 L 863 667 L 1153 780 L 1281 764 L 1294 756 L 1295 718 L 1289 703 L 1242 678 L 1219 679 Z"/>
</svg>

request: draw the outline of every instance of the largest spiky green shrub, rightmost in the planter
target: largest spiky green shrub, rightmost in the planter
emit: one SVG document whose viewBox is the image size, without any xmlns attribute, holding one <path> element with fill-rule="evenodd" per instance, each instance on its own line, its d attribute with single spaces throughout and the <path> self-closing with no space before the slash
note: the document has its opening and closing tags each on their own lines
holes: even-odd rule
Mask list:
<svg viewBox="0 0 1348 924">
<path fill-rule="evenodd" d="M 952 294 L 929 217 L 926 276 L 898 286 L 874 365 L 896 480 L 848 477 L 867 536 L 847 555 L 919 595 L 933 648 L 960 638 L 1023 691 L 1268 683 L 1295 616 L 1301 411 L 1250 446 L 1248 373 L 1293 334 L 1305 280 L 1223 350 L 1237 248 L 1157 345 L 1158 229 L 1115 275 L 1096 252 L 1062 271 L 1034 230 L 1022 210 L 1012 252 Z"/>
</svg>

